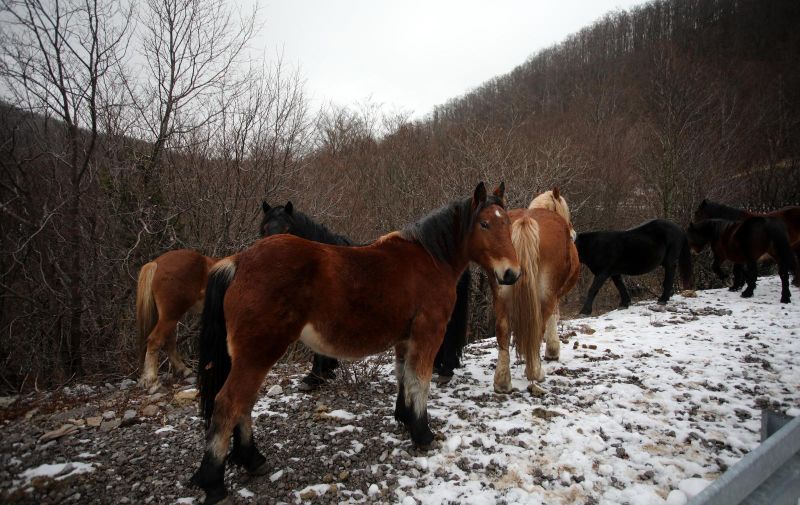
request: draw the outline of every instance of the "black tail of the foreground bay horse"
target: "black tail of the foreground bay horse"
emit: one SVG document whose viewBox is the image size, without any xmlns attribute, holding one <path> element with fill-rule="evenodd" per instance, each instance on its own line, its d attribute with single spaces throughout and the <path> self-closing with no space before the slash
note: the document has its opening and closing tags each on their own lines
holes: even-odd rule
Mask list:
<svg viewBox="0 0 800 505">
<path fill-rule="evenodd" d="M 231 371 L 223 302 L 235 274 L 234 258 L 225 258 L 214 265 L 208 275 L 198 345 L 200 358 L 197 363 L 200 413 L 206 427 L 211 423 L 214 413 L 214 399 Z"/>
</svg>

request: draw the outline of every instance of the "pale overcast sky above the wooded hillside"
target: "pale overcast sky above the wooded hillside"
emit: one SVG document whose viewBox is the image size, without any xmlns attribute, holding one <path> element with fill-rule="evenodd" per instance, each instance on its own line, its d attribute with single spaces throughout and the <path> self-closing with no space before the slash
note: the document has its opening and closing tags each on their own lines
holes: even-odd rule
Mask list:
<svg viewBox="0 0 800 505">
<path fill-rule="evenodd" d="M 421 118 L 605 13 L 641 0 L 261 0 L 253 42 L 300 69 L 312 106 Z"/>
</svg>

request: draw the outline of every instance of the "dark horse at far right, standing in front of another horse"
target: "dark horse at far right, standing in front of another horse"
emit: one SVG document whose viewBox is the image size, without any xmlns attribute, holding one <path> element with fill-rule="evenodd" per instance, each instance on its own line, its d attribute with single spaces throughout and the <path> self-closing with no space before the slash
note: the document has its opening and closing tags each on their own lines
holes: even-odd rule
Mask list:
<svg viewBox="0 0 800 505">
<path fill-rule="evenodd" d="M 769 255 L 778 264 L 781 278 L 781 303 L 791 303 L 789 292 L 789 270 L 795 269 L 796 259 L 787 238 L 786 226 L 780 219 L 752 216 L 742 221 L 728 219 L 705 219 L 689 223 L 686 231 L 689 244 L 695 252 L 711 244 L 714 253 L 714 271 L 720 275 L 720 263 L 729 260 L 744 265 L 747 288 L 743 298 L 750 298 L 756 288 L 757 261 Z M 738 283 L 734 279 L 734 286 Z"/>
</svg>

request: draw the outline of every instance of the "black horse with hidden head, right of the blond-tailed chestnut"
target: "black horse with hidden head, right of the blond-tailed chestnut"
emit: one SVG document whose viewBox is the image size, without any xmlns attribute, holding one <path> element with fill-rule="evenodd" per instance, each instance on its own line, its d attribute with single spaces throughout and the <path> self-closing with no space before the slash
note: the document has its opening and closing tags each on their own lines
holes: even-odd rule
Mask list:
<svg viewBox="0 0 800 505">
<path fill-rule="evenodd" d="M 579 233 L 575 246 L 581 263 L 594 274 L 581 314 L 592 313 L 594 298 L 609 277 L 619 291 L 623 308 L 630 305 L 631 297 L 622 275 L 642 275 L 663 266 L 664 284 L 658 299 L 661 305 L 672 296 L 676 265 L 684 289 L 689 289 L 692 283 L 692 257 L 686 234 L 671 221 L 653 219 L 625 231 Z"/>
</svg>

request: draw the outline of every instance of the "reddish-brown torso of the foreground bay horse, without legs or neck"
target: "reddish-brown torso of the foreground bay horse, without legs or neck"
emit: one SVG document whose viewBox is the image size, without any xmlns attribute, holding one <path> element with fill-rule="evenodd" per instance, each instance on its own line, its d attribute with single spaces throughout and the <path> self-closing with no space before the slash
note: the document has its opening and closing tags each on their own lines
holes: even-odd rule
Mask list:
<svg viewBox="0 0 800 505">
<path fill-rule="evenodd" d="M 344 247 L 274 235 L 237 255 L 225 313 L 250 331 L 278 321 L 275 331 L 297 337 L 311 325 L 344 350 L 339 357 L 360 357 L 408 338 L 415 318 L 431 313 L 442 319 L 443 335 L 456 286 L 446 270 L 400 237 Z M 367 347 L 356 349 L 357 342 Z"/>
</svg>

